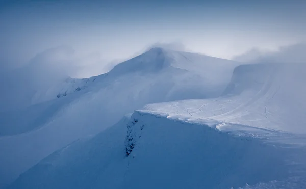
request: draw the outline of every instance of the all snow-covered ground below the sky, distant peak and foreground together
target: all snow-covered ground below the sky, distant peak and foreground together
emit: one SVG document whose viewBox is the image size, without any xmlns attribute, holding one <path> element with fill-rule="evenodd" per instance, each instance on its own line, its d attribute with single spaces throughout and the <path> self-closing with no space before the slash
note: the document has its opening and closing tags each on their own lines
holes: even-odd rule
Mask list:
<svg viewBox="0 0 306 189">
<path fill-rule="evenodd" d="M 1 174 L 23 172 L 8 188 L 303 187 L 305 68 L 153 48 L 42 95 L 31 108 L 51 116 L 6 130 Z"/>
</svg>

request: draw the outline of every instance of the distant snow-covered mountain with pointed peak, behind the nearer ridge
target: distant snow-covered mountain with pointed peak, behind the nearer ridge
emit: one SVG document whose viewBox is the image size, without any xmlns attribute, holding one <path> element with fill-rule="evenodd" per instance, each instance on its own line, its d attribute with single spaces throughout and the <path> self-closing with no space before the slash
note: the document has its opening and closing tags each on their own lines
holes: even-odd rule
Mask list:
<svg viewBox="0 0 306 189">
<path fill-rule="evenodd" d="M 14 180 L 54 151 L 97 134 L 148 103 L 217 97 L 238 63 L 152 48 L 86 79 L 35 91 L 22 110 L 0 112 L 0 182 Z M 126 131 L 124 131 L 126 132 Z"/>
</svg>

